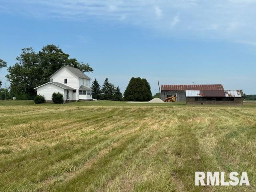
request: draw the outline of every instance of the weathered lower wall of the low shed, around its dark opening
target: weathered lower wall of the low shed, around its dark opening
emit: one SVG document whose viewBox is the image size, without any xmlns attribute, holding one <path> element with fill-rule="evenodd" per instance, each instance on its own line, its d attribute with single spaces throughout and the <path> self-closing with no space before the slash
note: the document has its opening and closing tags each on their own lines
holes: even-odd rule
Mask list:
<svg viewBox="0 0 256 192">
<path fill-rule="evenodd" d="M 200 105 L 200 104 L 214 104 L 214 105 L 243 105 L 244 98 L 235 97 L 234 101 L 195 101 L 194 97 L 187 97 L 186 104 Z"/>
</svg>

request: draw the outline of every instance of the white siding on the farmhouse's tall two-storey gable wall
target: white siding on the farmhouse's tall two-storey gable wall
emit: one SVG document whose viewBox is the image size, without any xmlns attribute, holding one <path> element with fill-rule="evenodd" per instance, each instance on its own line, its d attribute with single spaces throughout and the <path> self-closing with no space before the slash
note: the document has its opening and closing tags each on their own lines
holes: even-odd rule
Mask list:
<svg viewBox="0 0 256 192">
<path fill-rule="evenodd" d="M 67 79 L 67 83 L 64 83 L 64 79 Z M 52 76 L 53 82 L 62 83 L 69 87 L 76 89 L 76 93 L 72 94 L 70 91 L 70 95 L 72 94 L 72 100 L 78 99 L 78 76 L 76 76 L 73 72 L 71 72 L 68 68 L 63 67 L 58 72 L 56 72 Z M 66 97 L 66 95 L 65 95 Z M 71 96 L 69 96 L 71 98 Z"/>
</svg>

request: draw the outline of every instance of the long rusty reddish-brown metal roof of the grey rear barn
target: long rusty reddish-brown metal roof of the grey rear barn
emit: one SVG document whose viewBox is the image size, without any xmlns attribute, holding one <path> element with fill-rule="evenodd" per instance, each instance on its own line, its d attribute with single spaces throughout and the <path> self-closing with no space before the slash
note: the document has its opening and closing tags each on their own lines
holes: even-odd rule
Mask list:
<svg viewBox="0 0 256 192">
<path fill-rule="evenodd" d="M 222 84 L 211 85 L 162 85 L 162 91 L 185 91 L 185 90 L 224 90 Z"/>
</svg>

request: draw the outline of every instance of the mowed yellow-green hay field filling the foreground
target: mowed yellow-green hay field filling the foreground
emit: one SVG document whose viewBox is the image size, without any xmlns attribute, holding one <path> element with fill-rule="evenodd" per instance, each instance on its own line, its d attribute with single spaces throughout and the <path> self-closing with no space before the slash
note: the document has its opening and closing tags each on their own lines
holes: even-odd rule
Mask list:
<svg viewBox="0 0 256 192">
<path fill-rule="evenodd" d="M 246 171 L 250 186 L 195 186 Z M 0 191 L 256 191 L 256 104 L 0 101 Z"/>
</svg>

